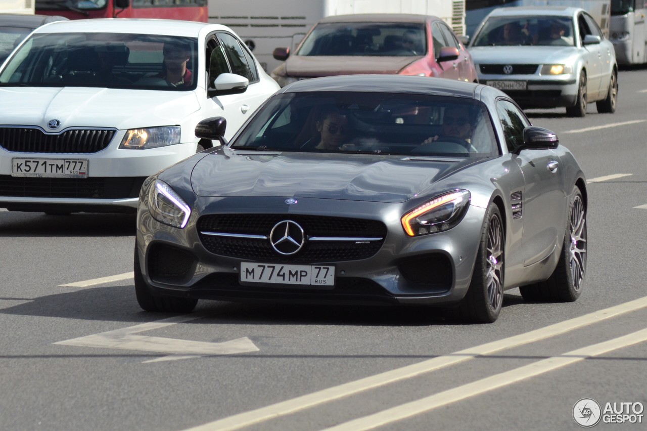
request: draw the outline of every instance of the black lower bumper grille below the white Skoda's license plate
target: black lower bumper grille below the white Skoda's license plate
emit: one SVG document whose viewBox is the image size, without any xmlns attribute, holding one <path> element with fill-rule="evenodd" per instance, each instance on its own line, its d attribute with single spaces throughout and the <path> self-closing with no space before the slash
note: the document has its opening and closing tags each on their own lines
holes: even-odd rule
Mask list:
<svg viewBox="0 0 647 431">
<path fill-rule="evenodd" d="M 0 175 L 0 196 L 123 199 L 138 197 L 146 177 L 36 178 Z"/>
</svg>

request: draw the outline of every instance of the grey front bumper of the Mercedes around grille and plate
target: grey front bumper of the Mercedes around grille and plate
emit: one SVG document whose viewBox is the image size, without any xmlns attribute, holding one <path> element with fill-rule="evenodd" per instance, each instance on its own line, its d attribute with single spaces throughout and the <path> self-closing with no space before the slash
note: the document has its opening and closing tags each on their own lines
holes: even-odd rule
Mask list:
<svg viewBox="0 0 647 431">
<path fill-rule="evenodd" d="M 212 199 L 209 213 L 258 212 L 256 198 Z M 283 208 L 286 197 L 275 199 Z M 316 304 L 452 304 L 468 289 L 485 210 L 470 206 L 465 218 L 445 232 L 409 238 L 400 225 L 402 208 L 393 204 L 344 202 L 344 212 L 330 199 L 298 199 L 300 214 L 326 214 L 379 220 L 386 225 L 386 239 L 370 258 L 362 260 L 309 261 L 334 265 L 334 287 L 314 285 L 242 285 L 241 261 L 267 262 L 221 256 L 206 249 L 196 229 L 204 208 L 194 208 L 186 228 L 162 225 L 140 201 L 137 245 L 141 271 L 151 293 L 242 302 L 290 302 Z M 267 203 L 267 201 L 266 201 Z M 198 207 L 200 205 L 198 204 Z M 276 212 L 272 214 L 277 214 Z M 292 212 L 285 212 L 289 219 Z M 284 263 L 291 263 L 284 261 Z"/>
</svg>

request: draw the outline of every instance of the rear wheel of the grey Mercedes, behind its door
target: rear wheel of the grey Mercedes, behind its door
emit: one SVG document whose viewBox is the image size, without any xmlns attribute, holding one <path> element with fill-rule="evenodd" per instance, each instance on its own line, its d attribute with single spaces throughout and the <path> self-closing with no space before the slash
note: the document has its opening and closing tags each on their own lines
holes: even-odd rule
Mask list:
<svg viewBox="0 0 647 431">
<path fill-rule="evenodd" d="M 521 286 L 527 301 L 573 302 L 580 297 L 586 275 L 586 208 L 582 192 L 576 188 L 564 234 L 560 260 L 545 282 Z"/>
</svg>

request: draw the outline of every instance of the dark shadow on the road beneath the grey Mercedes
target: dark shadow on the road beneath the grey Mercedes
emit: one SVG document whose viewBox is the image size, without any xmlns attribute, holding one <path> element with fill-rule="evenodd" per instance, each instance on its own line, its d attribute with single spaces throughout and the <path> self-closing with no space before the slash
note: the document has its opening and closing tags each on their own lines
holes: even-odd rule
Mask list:
<svg viewBox="0 0 647 431">
<path fill-rule="evenodd" d="M 140 324 L 177 313 L 147 313 L 140 309 L 133 285 L 93 288 L 56 287 L 61 293 L 29 298 L 0 298 L 0 314 Z M 73 289 L 73 291 L 69 291 Z M 21 304 L 10 305 L 10 302 Z M 525 304 L 520 296 L 505 294 L 503 307 Z M 421 306 L 239 304 L 201 300 L 195 324 L 434 326 L 462 325 L 452 310 Z M 502 311 L 505 314 L 505 310 Z"/>
</svg>

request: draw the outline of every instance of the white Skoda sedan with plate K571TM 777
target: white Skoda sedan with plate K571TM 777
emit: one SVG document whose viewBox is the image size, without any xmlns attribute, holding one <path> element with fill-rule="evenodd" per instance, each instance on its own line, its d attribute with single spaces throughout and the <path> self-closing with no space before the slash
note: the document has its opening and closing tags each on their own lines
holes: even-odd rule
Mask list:
<svg viewBox="0 0 647 431">
<path fill-rule="evenodd" d="M 137 208 L 144 179 L 232 136 L 279 86 L 232 30 L 159 19 L 38 28 L 0 69 L 0 208 Z"/>
</svg>

